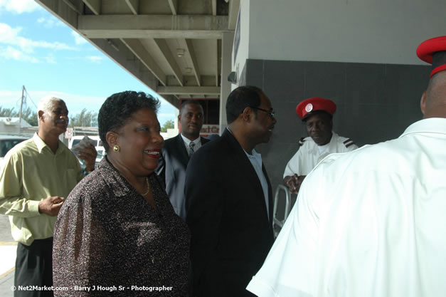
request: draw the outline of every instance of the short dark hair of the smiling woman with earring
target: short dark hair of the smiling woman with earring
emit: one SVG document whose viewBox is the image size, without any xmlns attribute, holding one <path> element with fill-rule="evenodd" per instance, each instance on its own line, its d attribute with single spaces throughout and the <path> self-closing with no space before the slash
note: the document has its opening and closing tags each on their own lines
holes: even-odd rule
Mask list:
<svg viewBox="0 0 446 297">
<path fill-rule="evenodd" d="M 142 108 L 149 108 L 155 113 L 159 108 L 159 100 L 152 95 L 143 92 L 127 90 L 125 92 L 111 95 L 102 104 L 99 115 L 97 115 L 97 125 L 99 126 L 99 137 L 108 152 L 110 148 L 105 135 L 109 131 L 116 131 L 123 127 L 132 115 Z"/>
</svg>

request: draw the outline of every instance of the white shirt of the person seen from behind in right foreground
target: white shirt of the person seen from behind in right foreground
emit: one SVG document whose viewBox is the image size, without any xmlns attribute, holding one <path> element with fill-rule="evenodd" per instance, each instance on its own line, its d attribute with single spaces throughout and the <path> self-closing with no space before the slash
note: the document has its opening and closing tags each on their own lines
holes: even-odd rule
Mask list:
<svg viewBox="0 0 446 297">
<path fill-rule="evenodd" d="M 326 157 L 248 285 L 257 296 L 446 296 L 446 119 Z"/>
</svg>

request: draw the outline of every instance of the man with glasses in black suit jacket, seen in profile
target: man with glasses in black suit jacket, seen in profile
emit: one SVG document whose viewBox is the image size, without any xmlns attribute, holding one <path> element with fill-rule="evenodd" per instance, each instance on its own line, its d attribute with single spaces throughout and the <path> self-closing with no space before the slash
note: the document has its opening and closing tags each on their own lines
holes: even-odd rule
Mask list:
<svg viewBox="0 0 446 297">
<path fill-rule="evenodd" d="M 273 242 L 271 185 L 254 150 L 276 123 L 270 100 L 239 87 L 226 113 L 228 129 L 193 155 L 186 172 L 193 296 L 253 296 L 245 287 Z"/>
</svg>

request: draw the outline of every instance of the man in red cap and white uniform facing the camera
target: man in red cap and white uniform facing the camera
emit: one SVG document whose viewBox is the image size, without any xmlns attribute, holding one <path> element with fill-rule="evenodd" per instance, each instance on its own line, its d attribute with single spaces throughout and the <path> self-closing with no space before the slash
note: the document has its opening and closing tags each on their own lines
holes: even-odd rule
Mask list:
<svg viewBox="0 0 446 297">
<path fill-rule="evenodd" d="M 333 131 L 335 111 L 333 101 L 319 97 L 308 98 L 297 105 L 296 113 L 306 125 L 309 137 L 299 140 L 299 150 L 288 162 L 283 174 L 283 182 L 293 194 L 299 192 L 304 178 L 324 157 L 358 148 L 353 140 Z"/>
</svg>

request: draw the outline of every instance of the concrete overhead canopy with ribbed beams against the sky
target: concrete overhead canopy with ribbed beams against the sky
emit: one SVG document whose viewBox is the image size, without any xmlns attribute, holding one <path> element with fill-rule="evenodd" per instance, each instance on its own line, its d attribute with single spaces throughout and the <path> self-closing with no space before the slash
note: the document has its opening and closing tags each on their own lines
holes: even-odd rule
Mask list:
<svg viewBox="0 0 446 297">
<path fill-rule="evenodd" d="M 240 0 L 36 2 L 172 105 L 220 98 L 221 39 Z"/>
</svg>

